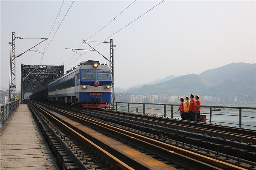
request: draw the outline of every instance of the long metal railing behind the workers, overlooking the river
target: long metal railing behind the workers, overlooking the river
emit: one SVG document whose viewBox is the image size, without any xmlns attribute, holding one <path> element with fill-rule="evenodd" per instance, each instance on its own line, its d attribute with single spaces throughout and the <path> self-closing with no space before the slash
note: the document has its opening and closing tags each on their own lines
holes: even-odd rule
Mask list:
<svg viewBox="0 0 256 170">
<path fill-rule="evenodd" d="M 180 105 L 128 102 L 114 103 L 116 111 L 181 119 L 180 112 L 176 113 Z M 197 107 L 201 107 L 200 118 L 197 118 L 197 114 L 195 114 L 197 121 L 256 129 L 256 108 L 201 105 L 196 106 L 196 110 Z"/>
</svg>

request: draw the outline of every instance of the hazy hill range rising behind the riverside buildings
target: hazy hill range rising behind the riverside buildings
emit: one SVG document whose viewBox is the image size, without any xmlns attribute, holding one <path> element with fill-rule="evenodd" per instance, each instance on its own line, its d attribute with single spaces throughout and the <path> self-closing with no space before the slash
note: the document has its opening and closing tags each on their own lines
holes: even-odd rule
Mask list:
<svg viewBox="0 0 256 170">
<path fill-rule="evenodd" d="M 238 99 L 255 101 L 256 64 L 231 63 L 204 71 L 199 75 L 189 74 L 125 92 L 152 95 L 237 96 Z"/>
</svg>

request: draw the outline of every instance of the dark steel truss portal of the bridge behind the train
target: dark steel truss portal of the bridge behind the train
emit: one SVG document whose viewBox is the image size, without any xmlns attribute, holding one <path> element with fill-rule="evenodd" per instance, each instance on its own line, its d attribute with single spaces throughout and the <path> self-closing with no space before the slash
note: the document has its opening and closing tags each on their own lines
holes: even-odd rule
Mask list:
<svg viewBox="0 0 256 170">
<path fill-rule="evenodd" d="M 21 64 L 20 102 L 24 94 L 33 93 L 45 87 L 64 74 L 64 65 L 23 65 Z"/>
</svg>

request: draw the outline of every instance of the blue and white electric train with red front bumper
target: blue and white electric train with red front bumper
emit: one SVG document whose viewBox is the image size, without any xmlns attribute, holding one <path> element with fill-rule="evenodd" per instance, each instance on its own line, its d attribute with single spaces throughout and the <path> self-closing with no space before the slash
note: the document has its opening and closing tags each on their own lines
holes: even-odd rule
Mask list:
<svg viewBox="0 0 256 170">
<path fill-rule="evenodd" d="M 108 108 L 111 102 L 112 72 L 107 64 L 88 60 L 29 96 L 79 108 Z"/>
</svg>

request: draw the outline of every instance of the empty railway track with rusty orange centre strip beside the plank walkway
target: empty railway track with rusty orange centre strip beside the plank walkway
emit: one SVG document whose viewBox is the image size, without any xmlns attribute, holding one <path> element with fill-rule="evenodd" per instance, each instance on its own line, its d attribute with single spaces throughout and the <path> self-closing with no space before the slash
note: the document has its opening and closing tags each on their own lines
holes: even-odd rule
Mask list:
<svg viewBox="0 0 256 170">
<path fill-rule="evenodd" d="M 35 106 L 35 105 L 33 107 L 38 108 L 38 106 Z M 55 108 L 52 108 L 52 109 L 55 109 Z M 191 146 L 188 147 L 185 144 L 181 145 L 179 143 L 171 144 L 171 142 L 168 139 L 162 138 L 161 136 L 159 137 L 159 136 L 152 135 L 150 133 L 137 131 L 129 127 L 121 127 L 120 125 L 113 124 L 103 119 L 96 120 L 96 118 L 93 118 L 94 120 L 92 120 L 92 117 L 90 117 L 89 119 L 87 117 L 84 117 L 84 115 L 81 116 L 74 113 L 69 113 L 67 111 L 62 111 L 60 109 L 57 109 L 57 110 L 55 109 L 55 111 L 56 112 L 58 111 L 58 113 L 68 114 L 66 116 L 70 117 L 70 119 L 67 122 L 64 122 L 64 120 L 68 119 L 66 116 L 65 117 L 56 116 L 58 115 L 58 113 L 52 113 L 52 111 L 49 111 L 49 109 L 47 108 L 41 108 L 40 110 L 43 112 L 48 112 L 47 114 L 51 115 L 49 117 L 52 117 L 52 119 L 56 119 L 55 121 L 57 121 L 58 125 L 62 125 L 62 124 L 66 125 L 67 126 L 66 131 L 69 131 L 70 133 L 72 133 L 72 136 L 75 136 L 76 139 L 80 141 L 79 143 L 89 142 L 89 144 L 85 144 L 87 148 L 88 146 L 89 148 L 93 148 L 92 150 L 95 150 L 94 152 L 101 155 L 101 160 L 103 160 L 102 158 L 104 157 L 105 158 L 104 160 L 108 160 L 108 164 L 115 166 L 115 168 L 120 168 L 120 169 L 128 168 L 128 169 L 141 169 L 141 170 L 154 169 L 154 168 L 198 169 L 199 167 L 200 168 L 204 167 L 203 169 L 248 169 L 248 168 L 253 169 L 254 168 L 254 165 L 246 164 L 244 162 L 240 162 L 239 160 L 236 160 L 234 162 L 234 160 L 230 160 L 230 158 L 227 158 L 227 157 L 225 158 L 225 160 L 222 160 L 221 158 L 222 156 L 218 155 L 218 153 L 215 154 L 216 158 L 212 158 L 210 157 L 212 153 L 209 153 L 209 150 L 208 152 L 204 152 L 200 148 L 198 148 L 197 152 L 195 152 L 194 151 L 195 148 L 192 148 Z M 76 119 L 76 122 L 71 120 L 71 117 L 72 119 Z M 87 125 L 87 126 L 90 126 L 90 128 L 93 128 L 93 133 L 90 132 L 92 130 L 89 130 L 88 127 L 84 127 L 78 122 L 81 122 L 81 124 Z M 104 133 L 103 134 L 99 133 L 100 131 Z M 62 136 L 61 138 L 63 138 L 64 135 L 61 135 L 61 136 Z M 95 136 L 100 138 L 100 140 L 93 138 Z M 116 141 L 113 139 L 118 139 L 118 141 L 121 141 L 121 142 L 119 142 L 119 144 L 116 144 L 115 142 L 113 143 L 107 142 L 104 144 L 102 141 L 105 141 L 107 139 L 105 137 L 103 138 L 102 136 L 107 136 L 108 139 L 112 138 L 112 142 Z M 72 145 L 71 143 L 75 143 L 75 142 L 69 142 L 69 145 Z M 99 144 L 98 149 L 96 146 L 93 146 L 92 144 Z M 178 145 L 181 145 L 181 146 L 178 146 Z M 115 146 L 116 150 L 113 150 L 113 146 Z M 135 149 L 131 147 L 134 147 Z M 103 149 L 104 151 L 99 150 L 99 148 Z M 83 149 L 80 149 L 80 152 L 78 151 L 76 152 L 79 153 L 81 156 L 83 153 Z M 204 152 L 204 153 L 202 154 L 200 152 Z M 112 159 L 107 158 L 108 154 L 111 156 L 114 156 L 115 158 L 120 158 L 120 159 L 122 158 L 121 159 L 122 161 L 120 159 L 114 160 L 113 158 Z M 148 155 L 153 155 L 153 156 L 148 156 Z M 146 157 L 143 157 L 143 156 L 146 156 Z M 142 157 L 144 162 L 141 161 Z M 154 164 L 152 164 L 153 160 L 157 161 L 157 163 L 155 162 Z M 130 165 L 129 163 L 131 162 L 132 164 Z M 78 163 L 76 162 L 76 164 Z M 84 166 L 84 162 L 80 164 Z M 140 167 L 141 164 L 143 164 L 144 167 Z M 150 167 L 147 167 L 145 165 Z M 151 167 L 151 165 L 158 166 L 158 167 Z M 80 165 L 78 167 L 81 168 L 82 166 Z M 96 167 L 96 168 L 98 169 L 99 167 Z"/>
</svg>

